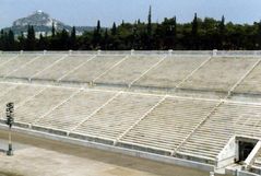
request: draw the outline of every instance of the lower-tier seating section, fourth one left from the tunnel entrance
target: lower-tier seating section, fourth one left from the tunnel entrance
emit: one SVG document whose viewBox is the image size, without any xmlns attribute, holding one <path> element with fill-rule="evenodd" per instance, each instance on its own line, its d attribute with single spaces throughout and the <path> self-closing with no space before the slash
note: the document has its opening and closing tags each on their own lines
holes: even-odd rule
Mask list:
<svg viewBox="0 0 261 176">
<path fill-rule="evenodd" d="M 34 122 L 34 126 L 38 125 L 46 128 L 70 131 L 80 121 L 85 121 L 92 113 L 114 97 L 114 95 L 115 93 L 109 92 L 75 91 L 68 102 L 64 102 L 56 110 Z"/>
</svg>

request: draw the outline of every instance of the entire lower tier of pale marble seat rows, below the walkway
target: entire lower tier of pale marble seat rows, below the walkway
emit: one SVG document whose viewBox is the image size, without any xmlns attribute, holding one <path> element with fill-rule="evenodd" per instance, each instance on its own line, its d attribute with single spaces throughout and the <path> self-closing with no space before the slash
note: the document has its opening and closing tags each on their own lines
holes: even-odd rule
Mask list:
<svg viewBox="0 0 261 176">
<path fill-rule="evenodd" d="M 254 103 L 16 83 L 0 92 L 2 120 L 14 102 L 15 122 L 28 128 L 135 150 L 215 161 L 232 137 L 261 138 Z"/>
</svg>

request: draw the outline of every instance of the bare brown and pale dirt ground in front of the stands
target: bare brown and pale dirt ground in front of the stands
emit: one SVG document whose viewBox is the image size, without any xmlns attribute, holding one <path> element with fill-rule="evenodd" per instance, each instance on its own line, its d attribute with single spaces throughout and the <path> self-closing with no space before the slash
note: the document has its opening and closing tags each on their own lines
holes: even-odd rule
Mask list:
<svg viewBox="0 0 261 176">
<path fill-rule="evenodd" d="M 7 149 L 7 131 L 0 148 Z M 13 133 L 14 155 L 0 153 L 0 176 L 209 176 L 192 168 Z"/>
</svg>

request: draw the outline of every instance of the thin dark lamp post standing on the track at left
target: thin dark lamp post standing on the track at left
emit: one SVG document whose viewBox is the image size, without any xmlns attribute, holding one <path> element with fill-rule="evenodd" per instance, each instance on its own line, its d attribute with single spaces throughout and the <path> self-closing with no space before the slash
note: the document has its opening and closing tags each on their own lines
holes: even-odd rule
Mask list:
<svg viewBox="0 0 261 176">
<path fill-rule="evenodd" d="M 9 144 L 7 154 L 9 156 L 13 155 L 13 148 L 12 148 L 12 125 L 14 122 L 14 104 L 8 103 L 7 104 L 7 125 L 9 126 Z"/>
</svg>

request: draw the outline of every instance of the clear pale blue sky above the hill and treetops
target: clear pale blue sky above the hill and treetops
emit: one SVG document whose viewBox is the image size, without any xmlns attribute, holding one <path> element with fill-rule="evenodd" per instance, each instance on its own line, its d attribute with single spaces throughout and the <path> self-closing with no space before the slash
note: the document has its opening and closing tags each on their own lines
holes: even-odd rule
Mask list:
<svg viewBox="0 0 261 176">
<path fill-rule="evenodd" d="M 152 20 L 177 16 L 179 23 L 190 22 L 197 12 L 199 17 L 221 19 L 226 22 L 249 23 L 261 20 L 261 0 L 0 0 L 0 28 L 11 26 L 16 19 L 37 10 L 69 25 L 102 26 L 146 21 L 152 5 Z"/>
</svg>

